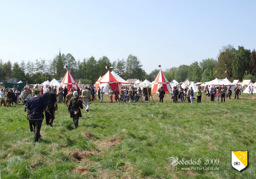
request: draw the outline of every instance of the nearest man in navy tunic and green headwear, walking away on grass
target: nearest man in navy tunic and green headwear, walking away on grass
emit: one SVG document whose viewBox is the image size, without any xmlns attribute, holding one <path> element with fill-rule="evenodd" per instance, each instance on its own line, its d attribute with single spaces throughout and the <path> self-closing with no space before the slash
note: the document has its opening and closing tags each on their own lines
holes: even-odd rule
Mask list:
<svg viewBox="0 0 256 179">
<path fill-rule="evenodd" d="M 29 120 L 29 124 L 32 123 L 34 127 L 34 142 L 38 142 L 38 139 L 41 137 L 40 130 L 44 120 L 44 110 L 47 107 L 44 99 L 40 97 L 40 92 L 41 91 L 39 89 L 34 89 L 33 93 L 35 97 L 29 98 L 25 104 L 27 119 Z"/>
</svg>

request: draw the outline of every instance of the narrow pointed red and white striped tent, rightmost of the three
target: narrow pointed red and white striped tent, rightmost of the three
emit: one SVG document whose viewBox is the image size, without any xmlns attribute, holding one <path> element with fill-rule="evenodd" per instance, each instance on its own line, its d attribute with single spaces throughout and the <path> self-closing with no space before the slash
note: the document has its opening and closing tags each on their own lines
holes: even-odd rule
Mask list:
<svg viewBox="0 0 256 179">
<path fill-rule="evenodd" d="M 162 86 L 165 93 L 172 93 L 171 85 L 167 80 L 167 78 L 164 76 L 162 69 L 160 69 L 155 81 L 152 84 L 151 93 L 152 94 L 157 93 L 158 92 L 157 89 L 161 88 Z"/>
</svg>

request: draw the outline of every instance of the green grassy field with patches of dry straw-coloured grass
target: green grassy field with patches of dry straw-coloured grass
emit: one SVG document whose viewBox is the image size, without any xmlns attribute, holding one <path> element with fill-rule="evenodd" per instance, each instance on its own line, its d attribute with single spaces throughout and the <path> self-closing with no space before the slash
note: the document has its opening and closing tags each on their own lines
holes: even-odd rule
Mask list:
<svg viewBox="0 0 256 179">
<path fill-rule="evenodd" d="M 64 104 L 54 127 L 41 128 L 34 144 L 22 105 L 0 107 L 0 172 L 3 179 L 21 178 L 256 178 L 256 100 L 226 103 L 92 102 L 74 128 Z M 217 101 L 217 100 L 216 100 Z M 231 166 L 234 150 L 249 151 L 249 166 Z M 219 159 L 219 170 L 177 171 L 166 157 Z"/>
</svg>

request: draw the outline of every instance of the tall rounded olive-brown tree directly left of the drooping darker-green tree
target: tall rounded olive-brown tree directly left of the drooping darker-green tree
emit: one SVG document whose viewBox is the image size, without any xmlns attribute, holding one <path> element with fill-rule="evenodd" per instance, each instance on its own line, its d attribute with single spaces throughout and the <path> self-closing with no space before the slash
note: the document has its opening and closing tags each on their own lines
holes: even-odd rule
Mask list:
<svg viewBox="0 0 256 179">
<path fill-rule="evenodd" d="M 217 77 L 224 78 L 225 71 L 227 70 L 228 78 L 233 76 L 232 70 L 232 61 L 235 58 L 236 49 L 232 45 L 223 46 L 220 49 L 220 53 L 218 55 L 218 63 L 215 67 L 217 70 Z"/>
</svg>

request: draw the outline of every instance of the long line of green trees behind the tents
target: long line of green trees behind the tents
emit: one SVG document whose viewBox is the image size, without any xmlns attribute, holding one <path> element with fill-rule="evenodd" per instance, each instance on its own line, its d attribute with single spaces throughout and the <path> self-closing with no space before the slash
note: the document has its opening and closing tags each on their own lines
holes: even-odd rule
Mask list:
<svg viewBox="0 0 256 179">
<path fill-rule="evenodd" d="M 21 60 L 20 63 L 11 63 L 10 60 L 3 63 L 0 59 L 0 81 L 13 82 L 17 80 L 28 81 L 30 84 L 42 83 L 46 79 L 53 78 L 59 80 L 64 77 L 68 66 L 70 73 L 78 82 L 94 84 L 99 76 L 104 75 L 108 69 L 106 66 L 113 66 L 116 74 L 120 75 L 125 80 L 129 78 L 154 81 L 159 69 L 154 69 L 149 74 L 143 69 L 143 65 L 139 58 L 130 54 L 127 58 L 110 61 L 107 56 L 102 56 L 95 59 L 93 56 L 76 60 L 70 53 L 59 54 L 50 60 L 43 58 L 35 61 Z M 227 74 L 225 71 L 227 70 Z M 256 53 L 245 49 L 243 46 L 238 46 L 235 49 L 232 45 L 223 46 L 217 57 L 195 61 L 190 65 L 180 65 L 164 70 L 164 74 L 169 81 L 175 79 L 182 82 L 186 79 L 195 82 L 207 82 L 213 80 L 216 75 L 218 78 L 227 78 L 230 81 L 234 79 L 252 79 L 256 81 Z M 15 79 L 15 80 L 14 80 Z"/>
</svg>

